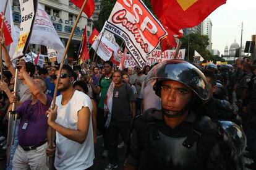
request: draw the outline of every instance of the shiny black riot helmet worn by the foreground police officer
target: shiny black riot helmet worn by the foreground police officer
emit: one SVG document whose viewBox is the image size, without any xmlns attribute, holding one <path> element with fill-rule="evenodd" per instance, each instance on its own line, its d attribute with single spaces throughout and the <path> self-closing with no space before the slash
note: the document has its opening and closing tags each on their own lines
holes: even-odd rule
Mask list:
<svg viewBox="0 0 256 170">
<path fill-rule="evenodd" d="M 208 100 L 209 88 L 205 76 L 187 61 L 173 59 L 161 62 L 148 72 L 145 83 L 152 79 L 156 80 L 153 89 L 158 96 L 160 96 L 161 83 L 164 80 L 173 80 L 189 87 L 201 100 Z"/>
</svg>

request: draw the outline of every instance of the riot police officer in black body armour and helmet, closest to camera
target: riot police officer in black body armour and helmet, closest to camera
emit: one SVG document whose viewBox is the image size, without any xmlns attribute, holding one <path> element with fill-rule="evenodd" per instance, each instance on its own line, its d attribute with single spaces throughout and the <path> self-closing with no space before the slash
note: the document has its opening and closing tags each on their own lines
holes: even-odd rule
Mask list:
<svg viewBox="0 0 256 170">
<path fill-rule="evenodd" d="M 239 169 L 242 130 L 232 123 L 223 129 L 198 113 L 209 95 L 202 72 L 189 62 L 169 60 L 148 74 L 156 79 L 162 109 L 148 109 L 135 118 L 124 169 Z M 231 142 L 229 135 L 239 140 Z"/>
</svg>

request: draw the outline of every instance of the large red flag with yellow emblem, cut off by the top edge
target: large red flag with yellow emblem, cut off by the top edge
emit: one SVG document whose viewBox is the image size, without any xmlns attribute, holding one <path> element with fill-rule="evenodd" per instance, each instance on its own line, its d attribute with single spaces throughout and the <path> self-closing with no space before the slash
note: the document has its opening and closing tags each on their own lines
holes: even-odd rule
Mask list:
<svg viewBox="0 0 256 170">
<path fill-rule="evenodd" d="M 182 28 L 195 27 L 226 0 L 151 0 L 161 23 L 179 35 Z"/>
</svg>

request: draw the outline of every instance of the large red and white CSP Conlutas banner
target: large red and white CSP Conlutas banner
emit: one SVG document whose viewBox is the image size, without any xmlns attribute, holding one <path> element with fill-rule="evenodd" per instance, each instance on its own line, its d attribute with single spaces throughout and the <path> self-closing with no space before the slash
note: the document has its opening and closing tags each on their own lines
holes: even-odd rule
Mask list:
<svg viewBox="0 0 256 170">
<path fill-rule="evenodd" d="M 146 66 L 146 56 L 166 36 L 166 30 L 140 0 L 117 0 L 106 30 L 119 36 L 140 68 Z"/>
</svg>

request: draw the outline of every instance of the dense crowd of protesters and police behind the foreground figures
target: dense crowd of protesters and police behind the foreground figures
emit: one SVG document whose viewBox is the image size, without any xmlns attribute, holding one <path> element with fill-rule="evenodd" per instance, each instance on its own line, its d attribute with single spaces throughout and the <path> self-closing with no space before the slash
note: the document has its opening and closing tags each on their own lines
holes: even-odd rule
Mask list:
<svg viewBox="0 0 256 170">
<path fill-rule="evenodd" d="M 5 58 L 7 59 L 7 58 Z M 45 64 L 45 67 L 41 68 L 34 66 L 31 62 L 20 64 L 19 86 L 18 86 L 18 98 L 13 98 L 12 91 L 14 90 L 14 67 L 10 66 L 8 59 L 6 60 L 6 66 L 1 74 L 3 82 L 0 82 L 0 88 L 2 90 L 0 94 L 0 145 L 3 150 L 6 150 L 6 137 L 7 137 L 7 111 L 10 110 L 10 105 L 13 102 L 19 102 L 17 104 L 17 111 L 22 113 L 22 103 L 27 100 L 32 100 L 33 96 L 41 93 L 36 91 L 32 84 L 42 84 L 42 91 L 45 95 L 42 95 L 45 100 L 40 100 L 44 103 L 43 106 L 36 105 L 30 112 L 45 112 L 48 110 L 54 93 L 54 80 L 58 75 L 59 66 L 51 66 L 51 64 Z M 205 114 L 213 119 L 229 119 L 242 125 L 247 135 L 247 150 L 249 151 L 245 156 L 254 159 L 256 163 L 256 63 L 252 62 L 249 57 L 239 58 L 233 65 L 218 65 L 207 64 L 200 69 L 203 70 L 205 77 L 208 79 L 212 96 L 208 101 L 208 108 L 211 106 L 213 109 L 220 106 L 221 109 L 226 109 L 227 113 L 231 115 L 226 118 L 220 115 L 211 115 L 210 111 L 206 111 Z M 76 62 L 69 64 L 72 68 L 72 74 L 60 75 L 73 76 L 73 87 L 75 90 L 82 91 L 87 94 L 92 100 L 92 127 L 93 127 L 93 142 L 96 143 L 96 136 L 103 135 L 105 150 L 102 153 L 104 158 L 109 158 L 109 166 L 106 169 L 114 168 L 118 161 L 117 147 L 120 147 L 118 143 L 119 134 L 122 137 L 124 144 L 128 140 L 129 125 L 132 117 L 137 114 L 142 114 L 148 108 L 161 109 L 160 101 L 155 92 L 153 86 L 144 84 L 147 79 L 147 74 L 150 72 L 151 67 L 145 66 L 144 69 L 139 67 L 129 67 L 122 71 L 113 67 L 113 63 L 106 61 L 98 66 L 91 67 L 89 64 L 82 64 L 77 66 Z M 61 79 L 62 79 L 61 77 Z M 36 80 L 38 80 L 36 82 Z M 109 87 L 113 83 L 113 105 L 111 110 L 111 118 L 109 119 L 109 110 L 105 108 L 106 96 L 108 96 Z M 40 86 L 39 86 L 40 87 Z M 153 92 L 152 92 L 153 91 Z M 58 91 L 58 95 L 60 95 Z M 214 99 L 214 100 L 213 100 Z M 213 103 L 213 101 L 215 103 Z M 30 104 L 30 103 L 27 103 Z M 213 104 L 213 105 L 212 105 Z M 20 106 L 20 107 L 19 107 Z M 226 108 L 225 108 L 226 107 Z M 220 109 L 220 110 L 221 110 Z M 218 111 L 218 109 L 216 109 Z M 32 114 L 32 113 L 31 113 Z M 241 118 L 242 117 L 242 118 Z M 45 122 L 45 128 L 47 129 L 47 118 Z M 22 120 L 22 127 L 17 125 L 16 132 L 22 132 L 20 129 L 26 129 Z M 107 127 L 107 128 L 106 128 Z M 41 130 L 46 130 L 41 129 Z M 40 129 L 38 129 L 40 131 Z M 22 135 L 22 134 L 18 134 Z M 46 143 L 46 135 L 43 142 Z M 24 145 L 23 149 L 30 145 L 19 136 L 19 140 L 16 143 Z M 23 142 L 23 143 L 22 143 Z M 15 143 L 15 142 L 14 142 Z M 22 143 L 22 144 L 21 144 Z M 43 145 L 46 145 L 43 143 Z M 39 145 L 38 145 L 39 146 Z M 40 143 L 41 146 L 41 143 Z M 14 147 L 14 146 L 13 146 Z M 15 145 L 17 147 L 17 145 Z M 43 148 L 44 150 L 46 149 Z M 14 152 L 19 150 L 19 147 L 12 150 L 11 161 L 19 161 L 14 156 Z M 6 155 L 1 156 L 4 158 Z M 15 157 L 15 159 L 13 158 Z M 94 156 L 94 155 L 93 155 Z M 255 163 L 249 164 L 249 168 L 255 168 Z M 113 166 L 114 165 L 114 166 Z"/>
</svg>

